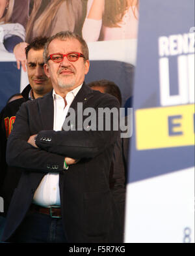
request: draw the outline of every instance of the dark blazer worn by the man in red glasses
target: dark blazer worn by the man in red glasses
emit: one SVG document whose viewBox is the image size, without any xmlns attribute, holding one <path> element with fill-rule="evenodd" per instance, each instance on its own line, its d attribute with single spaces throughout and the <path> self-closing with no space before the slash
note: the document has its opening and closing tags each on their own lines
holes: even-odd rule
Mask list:
<svg viewBox="0 0 195 256">
<path fill-rule="evenodd" d="M 83 110 L 95 108 L 96 113 L 98 108 L 119 108 L 115 97 L 94 91 L 85 83 L 71 105 L 76 120 L 77 103 L 83 103 Z M 87 117 L 83 116 L 83 121 Z M 98 123 L 98 115 L 96 120 Z M 77 122 L 74 125 L 77 127 Z M 34 134 L 38 134 L 38 149 L 27 143 Z M 68 242 L 121 242 L 120 217 L 109 189 L 110 163 L 118 135 L 112 125 L 111 131 L 53 131 L 52 93 L 22 104 L 8 137 L 6 161 L 21 167 L 23 174 L 10 203 L 2 240 L 8 241 L 23 221 L 44 175 L 59 172 Z M 64 156 L 81 160 L 63 170 Z"/>
</svg>

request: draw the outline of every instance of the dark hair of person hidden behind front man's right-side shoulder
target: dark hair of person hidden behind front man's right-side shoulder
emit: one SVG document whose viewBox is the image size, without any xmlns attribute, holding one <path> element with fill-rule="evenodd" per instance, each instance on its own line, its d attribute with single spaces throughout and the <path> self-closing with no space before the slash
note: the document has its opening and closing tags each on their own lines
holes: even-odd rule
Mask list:
<svg viewBox="0 0 195 256">
<path fill-rule="evenodd" d="M 120 106 L 122 105 L 122 95 L 121 95 L 120 89 L 114 82 L 103 79 L 103 80 L 90 82 L 88 86 L 90 88 L 93 88 L 96 86 L 103 88 L 105 93 L 109 93 L 110 95 L 116 97 L 116 99 L 118 99 L 120 103 Z"/>
</svg>

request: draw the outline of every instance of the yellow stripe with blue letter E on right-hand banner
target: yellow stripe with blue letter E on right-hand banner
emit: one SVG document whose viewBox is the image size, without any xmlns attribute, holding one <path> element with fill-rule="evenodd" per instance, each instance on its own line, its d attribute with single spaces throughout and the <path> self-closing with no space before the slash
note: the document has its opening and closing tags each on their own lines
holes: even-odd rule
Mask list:
<svg viewBox="0 0 195 256">
<path fill-rule="evenodd" d="M 194 145 L 194 104 L 136 110 L 136 149 Z"/>
</svg>

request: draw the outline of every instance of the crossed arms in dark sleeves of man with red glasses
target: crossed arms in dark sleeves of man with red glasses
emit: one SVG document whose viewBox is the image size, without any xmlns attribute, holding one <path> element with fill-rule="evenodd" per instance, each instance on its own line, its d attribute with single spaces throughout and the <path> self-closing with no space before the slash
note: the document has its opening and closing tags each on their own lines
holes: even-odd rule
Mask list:
<svg viewBox="0 0 195 256">
<path fill-rule="evenodd" d="M 118 103 L 115 106 L 118 106 Z M 8 137 L 6 161 L 8 165 L 48 172 L 48 165 L 61 171 L 66 163 L 72 165 L 78 159 L 95 157 L 107 146 L 114 144 L 118 131 L 41 131 L 39 120 L 29 121 L 31 110 L 24 103 L 16 115 L 12 133 Z M 37 115 L 38 113 L 36 113 Z M 36 128 L 36 129 L 35 129 Z M 37 134 L 36 143 L 34 133 Z M 50 137 L 50 142 L 41 140 Z"/>
</svg>

